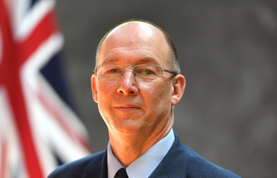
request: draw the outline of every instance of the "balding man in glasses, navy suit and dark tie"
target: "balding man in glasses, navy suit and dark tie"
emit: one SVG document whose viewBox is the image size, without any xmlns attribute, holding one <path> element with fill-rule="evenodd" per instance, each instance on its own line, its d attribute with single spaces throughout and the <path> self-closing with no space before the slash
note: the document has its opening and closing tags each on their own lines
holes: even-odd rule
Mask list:
<svg viewBox="0 0 277 178">
<path fill-rule="evenodd" d="M 92 95 L 108 126 L 108 149 L 49 177 L 239 177 L 182 145 L 172 130 L 186 81 L 160 27 L 130 20 L 113 28 L 97 47 L 94 72 Z"/>
</svg>

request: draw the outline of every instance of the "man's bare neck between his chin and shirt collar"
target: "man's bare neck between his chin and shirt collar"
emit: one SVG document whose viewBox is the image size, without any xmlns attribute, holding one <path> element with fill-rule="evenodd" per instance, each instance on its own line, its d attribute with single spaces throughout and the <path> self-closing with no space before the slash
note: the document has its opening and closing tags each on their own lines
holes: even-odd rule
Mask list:
<svg viewBox="0 0 277 178">
<path fill-rule="evenodd" d="M 147 132 L 137 135 L 120 135 L 109 130 L 109 137 L 113 155 L 124 166 L 128 167 L 137 158 L 143 155 L 150 147 L 164 138 L 173 125 L 173 118 L 166 127 L 158 131 Z"/>
</svg>

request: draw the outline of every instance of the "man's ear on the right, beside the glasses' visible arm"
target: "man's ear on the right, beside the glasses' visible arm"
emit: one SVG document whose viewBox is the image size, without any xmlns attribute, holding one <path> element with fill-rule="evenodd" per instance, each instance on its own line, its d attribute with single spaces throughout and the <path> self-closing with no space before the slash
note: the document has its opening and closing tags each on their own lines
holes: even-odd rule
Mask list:
<svg viewBox="0 0 277 178">
<path fill-rule="evenodd" d="M 171 97 L 171 105 L 176 105 L 183 97 L 185 87 L 186 87 L 186 79 L 183 75 L 179 74 L 174 77 L 172 84 L 173 84 L 173 93 Z"/>
</svg>

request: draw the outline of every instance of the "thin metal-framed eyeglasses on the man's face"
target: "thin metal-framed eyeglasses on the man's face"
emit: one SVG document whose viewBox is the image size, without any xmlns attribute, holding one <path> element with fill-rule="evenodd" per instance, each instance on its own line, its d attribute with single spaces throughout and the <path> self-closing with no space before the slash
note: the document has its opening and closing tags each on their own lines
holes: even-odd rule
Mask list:
<svg viewBox="0 0 277 178">
<path fill-rule="evenodd" d="M 103 82 L 118 82 L 124 75 L 125 69 L 133 69 L 133 75 L 136 79 L 143 82 L 152 82 L 157 80 L 163 75 L 163 72 L 168 72 L 177 75 L 177 72 L 163 69 L 158 65 L 137 65 L 133 68 L 123 68 L 118 65 L 103 65 L 98 66 L 94 69 L 97 80 Z"/>
</svg>

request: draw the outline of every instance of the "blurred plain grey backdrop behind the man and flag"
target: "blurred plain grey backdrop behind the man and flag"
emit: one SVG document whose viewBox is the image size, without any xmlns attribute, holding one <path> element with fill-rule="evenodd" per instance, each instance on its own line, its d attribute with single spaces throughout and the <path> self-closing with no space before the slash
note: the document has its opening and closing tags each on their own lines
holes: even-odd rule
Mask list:
<svg viewBox="0 0 277 178">
<path fill-rule="evenodd" d="M 277 176 L 277 1 L 57 1 L 69 90 L 91 137 L 108 132 L 91 95 L 95 49 L 117 23 L 143 18 L 174 40 L 187 86 L 175 107 L 183 144 L 243 177 Z"/>
</svg>

